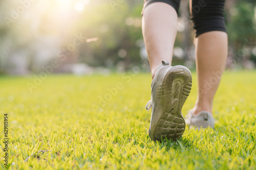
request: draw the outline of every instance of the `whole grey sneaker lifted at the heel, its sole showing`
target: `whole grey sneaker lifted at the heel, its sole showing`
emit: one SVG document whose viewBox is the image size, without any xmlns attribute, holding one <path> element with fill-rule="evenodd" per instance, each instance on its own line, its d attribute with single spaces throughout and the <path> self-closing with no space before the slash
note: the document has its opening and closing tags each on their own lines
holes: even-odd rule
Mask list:
<svg viewBox="0 0 256 170">
<path fill-rule="evenodd" d="M 190 93 L 192 85 L 191 72 L 182 65 L 169 66 L 162 61 L 151 84 L 151 99 L 146 109 L 152 107 L 150 129 L 148 134 L 154 141 L 176 139 L 185 130 L 185 120 L 181 113 L 183 104 Z"/>
</svg>

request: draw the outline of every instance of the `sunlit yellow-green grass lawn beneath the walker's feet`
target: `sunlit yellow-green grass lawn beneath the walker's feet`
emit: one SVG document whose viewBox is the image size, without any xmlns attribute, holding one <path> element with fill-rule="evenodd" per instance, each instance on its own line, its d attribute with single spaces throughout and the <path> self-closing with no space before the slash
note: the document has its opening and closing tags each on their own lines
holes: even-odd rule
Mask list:
<svg viewBox="0 0 256 170">
<path fill-rule="evenodd" d="M 256 168 L 255 71 L 224 74 L 214 103 L 215 130 L 186 127 L 180 140 L 163 143 L 147 134 L 151 112 L 144 106 L 150 100 L 151 75 L 132 76 L 53 75 L 32 92 L 27 83 L 33 83 L 33 77 L 0 77 L 0 169 Z M 102 102 L 99 96 L 104 98 L 116 85 L 122 89 Z M 193 108 L 196 94 L 193 73 L 184 115 Z"/>
</svg>

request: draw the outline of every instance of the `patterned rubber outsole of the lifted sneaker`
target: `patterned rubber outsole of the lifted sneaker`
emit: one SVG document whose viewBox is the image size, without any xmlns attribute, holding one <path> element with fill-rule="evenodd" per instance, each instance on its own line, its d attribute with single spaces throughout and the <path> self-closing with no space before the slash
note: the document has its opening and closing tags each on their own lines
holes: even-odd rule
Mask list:
<svg viewBox="0 0 256 170">
<path fill-rule="evenodd" d="M 157 104 L 155 114 L 160 117 L 151 129 L 153 140 L 177 139 L 185 131 L 185 120 L 181 109 L 190 93 L 191 72 L 184 66 L 171 67 L 156 89 Z M 160 107 L 159 107 L 160 104 Z"/>
</svg>

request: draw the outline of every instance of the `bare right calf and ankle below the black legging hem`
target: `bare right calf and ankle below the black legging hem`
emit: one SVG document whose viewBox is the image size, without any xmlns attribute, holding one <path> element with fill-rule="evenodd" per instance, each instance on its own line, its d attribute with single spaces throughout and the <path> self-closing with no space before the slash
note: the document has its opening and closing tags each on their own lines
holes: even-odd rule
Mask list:
<svg viewBox="0 0 256 170">
<path fill-rule="evenodd" d="M 214 96 L 225 69 L 227 34 L 221 31 L 203 33 L 196 38 L 198 95 L 193 110 L 212 113 Z"/>
</svg>

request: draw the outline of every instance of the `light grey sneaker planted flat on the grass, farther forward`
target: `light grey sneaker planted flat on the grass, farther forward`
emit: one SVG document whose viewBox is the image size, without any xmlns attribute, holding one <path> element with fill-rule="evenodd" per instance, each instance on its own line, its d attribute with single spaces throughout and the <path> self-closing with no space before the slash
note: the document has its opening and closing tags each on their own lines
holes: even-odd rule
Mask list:
<svg viewBox="0 0 256 170">
<path fill-rule="evenodd" d="M 207 127 L 214 129 L 215 119 L 212 117 L 211 113 L 207 111 L 201 111 L 197 115 L 193 115 L 192 111 L 193 109 L 189 110 L 188 114 L 185 116 L 185 122 L 190 128 L 194 126 L 197 127 L 197 129 Z"/>
</svg>

